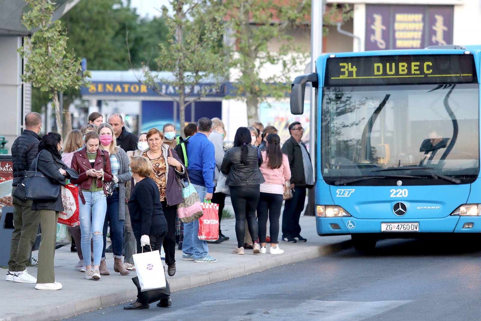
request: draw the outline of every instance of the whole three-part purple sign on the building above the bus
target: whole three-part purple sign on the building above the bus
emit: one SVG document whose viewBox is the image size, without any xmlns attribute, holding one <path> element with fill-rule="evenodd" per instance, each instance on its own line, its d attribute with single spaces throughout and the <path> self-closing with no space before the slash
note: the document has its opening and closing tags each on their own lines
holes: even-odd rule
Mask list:
<svg viewBox="0 0 481 321">
<path fill-rule="evenodd" d="M 453 6 L 366 5 L 365 50 L 450 44 L 453 12 Z"/>
</svg>

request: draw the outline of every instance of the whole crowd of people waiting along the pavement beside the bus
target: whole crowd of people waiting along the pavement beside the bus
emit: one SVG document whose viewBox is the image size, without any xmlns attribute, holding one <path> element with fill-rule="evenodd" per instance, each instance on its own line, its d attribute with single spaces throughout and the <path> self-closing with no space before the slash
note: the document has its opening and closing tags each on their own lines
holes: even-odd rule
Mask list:
<svg viewBox="0 0 481 321">
<path fill-rule="evenodd" d="M 182 260 L 217 261 L 209 254 L 207 241 L 198 238 L 199 220 L 184 224 L 177 218 L 177 204 L 183 201 L 178 180 L 189 181 L 201 201 L 219 205 L 219 239 L 211 242 L 214 244 L 229 240 L 221 223 L 230 195 L 237 238 L 233 254 L 245 254 L 248 249 L 254 254 L 283 253 L 278 245 L 279 230 L 281 241 L 306 241 L 300 235 L 299 217 L 306 187 L 314 185 L 314 175 L 299 122 L 290 124 L 291 138 L 282 147 L 277 129 L 264 128 L 260 122 L 240 127 L 233 145 L 226 147 L 226 129 L 218 118 L 187 124 L 184 137 L 177 137 L 173 123 L 166 123 L 162 131 L 152 128 L 137 137 L 127 131 L 121 115 L 110 115 L 104 123 L 100 113 L 89 115 L 89 123 L 68 133 L 65 141 L 57 133 L 40 137 L 41 130 L 41 116 L 28 113 L 25 130 L 12 146 L 13 195 L 22 187 L 25 171 L 35 168 L 58 185 L 59 196 L 67 183 L 78 187 L 79 225 L 68 230 L 79 258 L 75 268 L 85 272 L 87 280 L 110 274 L 105 261 L 108 232 L 114 272 L 121 275 L 135 270 L 135 253 L 161 247 L 167 273 L 175 275 L 177 243 Z M 220 182 L 228 186 L 228 192 L 216 191 Z M 292 189 L 292 198 L 285 201 L 280 224 L 286 188 Z M 39 290 L 61 289 L 62 284 L 55 280 L 53 257 L 62 198 L 32 202 L 13 197 L 13 206 L 15 229 L 6 280 L 36 283 Z M 26 264 L 39 223 L 35 278 L 27 272 Z M 158 306 L 170 305 L 166 296 Z M 136 301 L 126 308 L 146 306 Z"/>
</svg>

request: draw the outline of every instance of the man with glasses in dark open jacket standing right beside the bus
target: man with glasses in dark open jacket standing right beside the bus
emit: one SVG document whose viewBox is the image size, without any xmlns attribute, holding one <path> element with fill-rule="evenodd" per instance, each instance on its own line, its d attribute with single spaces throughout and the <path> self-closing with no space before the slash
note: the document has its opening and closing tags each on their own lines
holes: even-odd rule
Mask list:
<svg viewBox="0 0 481 321">
<path fill-rule="evenodd" d="M 311 157 L 302 139 L 304 128 L 298 121 L 289 125 L 291 137 L 282 146 L 291 167 L 291 187 L 293 197 L 287 200 L 282 213 L 282 241 L 295 243 L 307 241 L 301 236 L 299 218 L 304 210 L 306 187 L 314 186 L 314 172 Z"/>
</svg>

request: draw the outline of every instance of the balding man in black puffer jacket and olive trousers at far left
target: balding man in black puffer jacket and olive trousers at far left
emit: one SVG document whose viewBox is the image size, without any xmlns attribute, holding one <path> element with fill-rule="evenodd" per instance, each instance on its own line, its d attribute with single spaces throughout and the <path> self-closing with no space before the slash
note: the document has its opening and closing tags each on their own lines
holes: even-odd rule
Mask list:
<svg viewBox="0 0 481 321">
<path fill-rule="evenodd" d="M 30 170 L 30 165 L 38 153 L 42 130 L 40 114 L 31 112 L 25 115 L 25 130 L 15 139 L 12 145 L 13 158 L 13 188 L 12 195 L 19 184 L 24 181 L 25 171 Z M 32 201 L 22 201 L 13 197 L 13 224 L 15 229 L 10 242 L 10 259 L 5 277 L 7 281 L 20 283 L 37 283 L 37 279 L 26 270 L 30 259 L 32 246 L 37 239 L 38 223 L 40 217 L 37 211 L 31 209 Z"/>
</svg>

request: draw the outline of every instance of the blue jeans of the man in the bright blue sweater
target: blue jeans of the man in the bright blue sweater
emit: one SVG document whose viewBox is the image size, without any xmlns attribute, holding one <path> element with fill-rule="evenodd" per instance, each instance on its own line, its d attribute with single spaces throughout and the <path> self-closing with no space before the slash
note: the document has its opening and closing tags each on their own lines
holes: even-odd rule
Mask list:
<svg viewBox="0 0 481 321">
<path fill-rule="evenodd" d="M 201 202 L 204 201 L 205 194 L 207 194 L 207 187 L 192 184 L 192 186 L 199 194 Z M 182 252 L 184 254 L 193 254 L 194 259 L 201 259 L 206 257 L 209 253 L 207 241 L 201 241 L 198 238 L 199 220 L 190 223 L 184 223 L 184 241 L 182 241 Z"/>
</svg>

